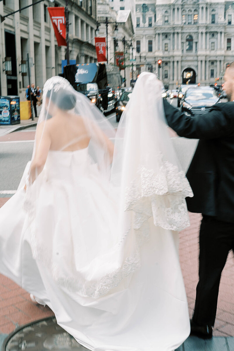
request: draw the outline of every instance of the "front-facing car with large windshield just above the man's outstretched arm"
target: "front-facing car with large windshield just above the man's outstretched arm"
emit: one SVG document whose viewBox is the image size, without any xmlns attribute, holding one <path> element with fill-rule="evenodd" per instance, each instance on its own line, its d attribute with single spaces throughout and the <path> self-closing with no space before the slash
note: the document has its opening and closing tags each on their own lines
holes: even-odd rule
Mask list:
<svg viewBox="0 0 234 351">
<path fill-rule="evenodd" d="M 212 87 L 190 87 L 181 100 L 181 112 L 186 115 L 196 115 L 209 112 L 211 106 L 219 101 Z"/>
</svg>

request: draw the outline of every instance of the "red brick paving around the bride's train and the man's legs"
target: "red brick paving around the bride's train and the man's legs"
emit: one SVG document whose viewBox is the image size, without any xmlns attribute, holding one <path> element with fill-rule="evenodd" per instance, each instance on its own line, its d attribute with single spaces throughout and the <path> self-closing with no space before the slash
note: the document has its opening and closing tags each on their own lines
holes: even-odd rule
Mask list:
<svg viewBox="0 0 234 351">
<path fill-rule="evenodd" d="M 0 198 L 0 207 L 8 198 Z M 190 213 L 191 226 L 180 233 L 180 262 L 185 280 L 189 304 L 189 314 L 192 317 L 196 284 L 198 283 L 198 233 L 201 215 Z M 234 259 L 233 252 L 228 256 L 222 273 L 217 318 L 214 336 L 234 336 Z M 34 320 L 53 316 L 48 307 L 34 305 L 29 294 L 0 275 L 0 333 L 9 334 L 16 327 Z"/>
</svg>

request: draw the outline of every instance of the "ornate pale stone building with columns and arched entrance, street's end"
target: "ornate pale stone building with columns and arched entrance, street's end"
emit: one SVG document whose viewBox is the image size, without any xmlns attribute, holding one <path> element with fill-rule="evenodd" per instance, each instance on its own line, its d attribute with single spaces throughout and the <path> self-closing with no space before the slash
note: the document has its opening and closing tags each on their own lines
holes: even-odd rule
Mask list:
<svg viewBox="0 0 234 351">
<path fill-rule="evenodd" d="M 136 70 L 158 74 L 165 87 L 214 84 L 234 61 L 233 1 L 136 0 L 135 25 Z"/>
</svg>

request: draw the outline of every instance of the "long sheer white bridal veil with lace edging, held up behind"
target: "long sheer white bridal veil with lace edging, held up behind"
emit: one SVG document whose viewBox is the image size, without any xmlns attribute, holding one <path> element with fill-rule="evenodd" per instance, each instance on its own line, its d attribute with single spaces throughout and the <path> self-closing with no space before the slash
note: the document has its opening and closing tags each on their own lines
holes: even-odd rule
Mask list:
<svg viewBox="0 0 234 351">
<path fill-rule="evenodd" d="M 164 229 L 182 230 L 189 225 L 185 197 L 192 196 L 192 191 L 168 135 L 161 89 L 154 74 L 142 73 L 115 134 L 100 111 L 65 79 L 53 77 L 44 86 L 43 96 L 47 98 L 43 99 L 38 121 L 38 127 L 43 127 L 40 139 L 35 139 L 34 153 L 36 144 L 43 143 L 45 121 L 51 118 L 54 106 L 68 111 L 67 123 L 71 123 L 69 115 L 81 118 L 85 133 L 69 140 L 69 145 L 90 139 L 89 158 L 114 212 L 106 220 L 108 235 L 98 228 L 89 237 L 80 234 L 79 228 L 89 231 L 89 218 L 84 214 L 79 217 L 83 223 L 76 223 L 72 229 L 70 242 L 53 234 L 48 238 L 36 221 L 36 199 L 40 197 L 40 178 L 46 177 L 46 166 L 38 181 L 27 183 L 25 208 L 31 223 L 34 258 L 47 266 L 64 289 L 92 298 L 112 293 L 111 289 L 116 289 L 123 278 L 139 269 L 139 250 L 150 237 L 151 217 L 155 226 Z M 112 167 L 105 136 L 115 145 Z M 67 140 L 60 149 L 66 147 Z M 72 182 L 75 187 L 75 179 Z M 85 252 L 80 250 L 80 242 Z"/>
</svg>

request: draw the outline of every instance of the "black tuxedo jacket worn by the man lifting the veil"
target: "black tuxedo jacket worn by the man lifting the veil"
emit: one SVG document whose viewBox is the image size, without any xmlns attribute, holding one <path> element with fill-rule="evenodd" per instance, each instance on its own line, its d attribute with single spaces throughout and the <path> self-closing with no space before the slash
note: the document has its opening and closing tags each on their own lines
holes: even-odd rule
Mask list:
<svg viewBox="0 0 234 351">
<path fill-rule="evenodd" d="M 163 100 L 168 125 L 180 136 L 200 139 L 186 174 L 194 197 L 188 210 L 234 223 L 234 102 L 188 117 Z"/>
</svg>

